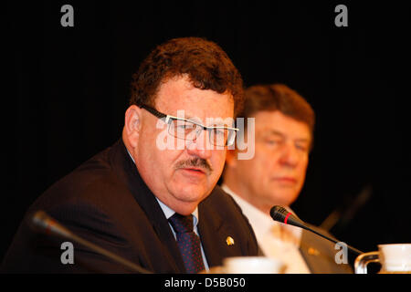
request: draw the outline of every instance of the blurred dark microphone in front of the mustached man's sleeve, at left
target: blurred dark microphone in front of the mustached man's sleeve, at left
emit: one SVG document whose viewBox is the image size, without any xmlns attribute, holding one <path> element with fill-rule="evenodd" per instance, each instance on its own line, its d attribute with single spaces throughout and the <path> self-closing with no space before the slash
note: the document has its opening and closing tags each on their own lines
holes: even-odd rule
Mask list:
<svg viewBox="0 0 411 292">
<path fill-rule="evenodd" d="M 73 234 L 66 227 L 59 224 L 55 219 L 47 215 L 44 211 L 37 211 L 35 214 L 33 214 L 33 216 L 31 216 L 30 225 L 37 232 L 42 232 L 47 235 L 58 235 L 70 241 L 76 242 L 79 245 L 84 245 L 100 255 L 105 255 L 111 258 L 113 261 L 121 264 L 122 266 L 127 266 L 128 268 L 131 268 L 134 272 L 141 274 L 153 274 L 152 272 L 142 268 L 142 266 L 137 266 L 131 261 L 121 257 L 120 255 L 115 255 L 110 251 L 98 245 L 94 245 L 89 241 L 82 239 L 78 235 Z"/>
</svg>

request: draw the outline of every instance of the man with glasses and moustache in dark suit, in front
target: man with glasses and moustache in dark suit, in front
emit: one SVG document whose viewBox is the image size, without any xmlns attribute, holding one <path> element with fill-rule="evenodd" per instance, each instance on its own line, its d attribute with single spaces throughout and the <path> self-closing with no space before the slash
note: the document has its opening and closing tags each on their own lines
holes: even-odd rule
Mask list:
<svg viewBox="0 0 411 292">
<path fill-rule="evenodd" d="M 133 75 L 122 138 L 51 186 L 41 209 L 76 235 L 154 273 L 198 273 L 225 257 L 257 255 L 248 220 L 216 186 L 242 79 L 227 54 L 201 38 L 156 47 Z M 74 244 L 21 224 L 3 263 L 9 272 L 132 272 Z"/>
</svg>

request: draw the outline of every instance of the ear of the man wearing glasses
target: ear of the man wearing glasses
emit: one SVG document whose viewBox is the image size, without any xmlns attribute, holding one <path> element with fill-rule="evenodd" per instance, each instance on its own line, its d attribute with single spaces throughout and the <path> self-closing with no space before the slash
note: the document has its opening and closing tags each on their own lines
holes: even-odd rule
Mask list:
<svg viewBox="0 0 411 292">
<path fill-rule="evenodd" d="M 124 117 L 124 139 L 132 146 L 137 147 L 142 129 L 142 109 L 136 105 L 132 105 L 126 110 Z"/>
</svg>

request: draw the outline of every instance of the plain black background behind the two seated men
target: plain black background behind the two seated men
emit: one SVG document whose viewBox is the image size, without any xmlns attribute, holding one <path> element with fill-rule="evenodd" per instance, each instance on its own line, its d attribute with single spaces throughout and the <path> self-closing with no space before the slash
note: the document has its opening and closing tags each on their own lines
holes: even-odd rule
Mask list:
<svg viewBox="0 0 411 292">
<path fill-rule="evenodd" d="M 315 145 L 292 205 L 301 219 L 321 224 L 342 210 L 332 233 L 364 251 L 411 243 L 411 14 L 403 2 L 133 2 L 4 6 L 0 260 L 37 196 L 121 137 L 132 73 L 178 36 L 215 41 L 247 86 L 282 82 L 309 100 Z M 74 27 L 60 25 L 65 4 Z M 348 27 L 334 25 L 338 4 L 348 7 Z M 370 197 L 353 208 L 364 188 Z"/>
</svg>

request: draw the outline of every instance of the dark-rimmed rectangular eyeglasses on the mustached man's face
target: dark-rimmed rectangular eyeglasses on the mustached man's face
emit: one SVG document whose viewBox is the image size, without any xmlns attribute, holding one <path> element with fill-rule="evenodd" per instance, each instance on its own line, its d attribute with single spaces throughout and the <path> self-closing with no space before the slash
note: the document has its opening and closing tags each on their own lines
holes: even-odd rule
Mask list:
<svg viewBox="0 0 411 292">
<path fill-rule="evenodd" d="M 159 119 L 165 119 L 168 124 L 168 133 L 177 139 L 186 141 L 195 141 L 203 130 L 207 130 L 209 141 L 211 144 L 220 147 L 226 147 L 234 144 L 236 139 L 237 128 L 229 128 L 224 126 L 209 127 L 195 120 L 185 120 L 171 115 L 163 114 L 162 112 L 153 109 L 145 104 L 140 108 L 149 111 Z"/>
</svg>

